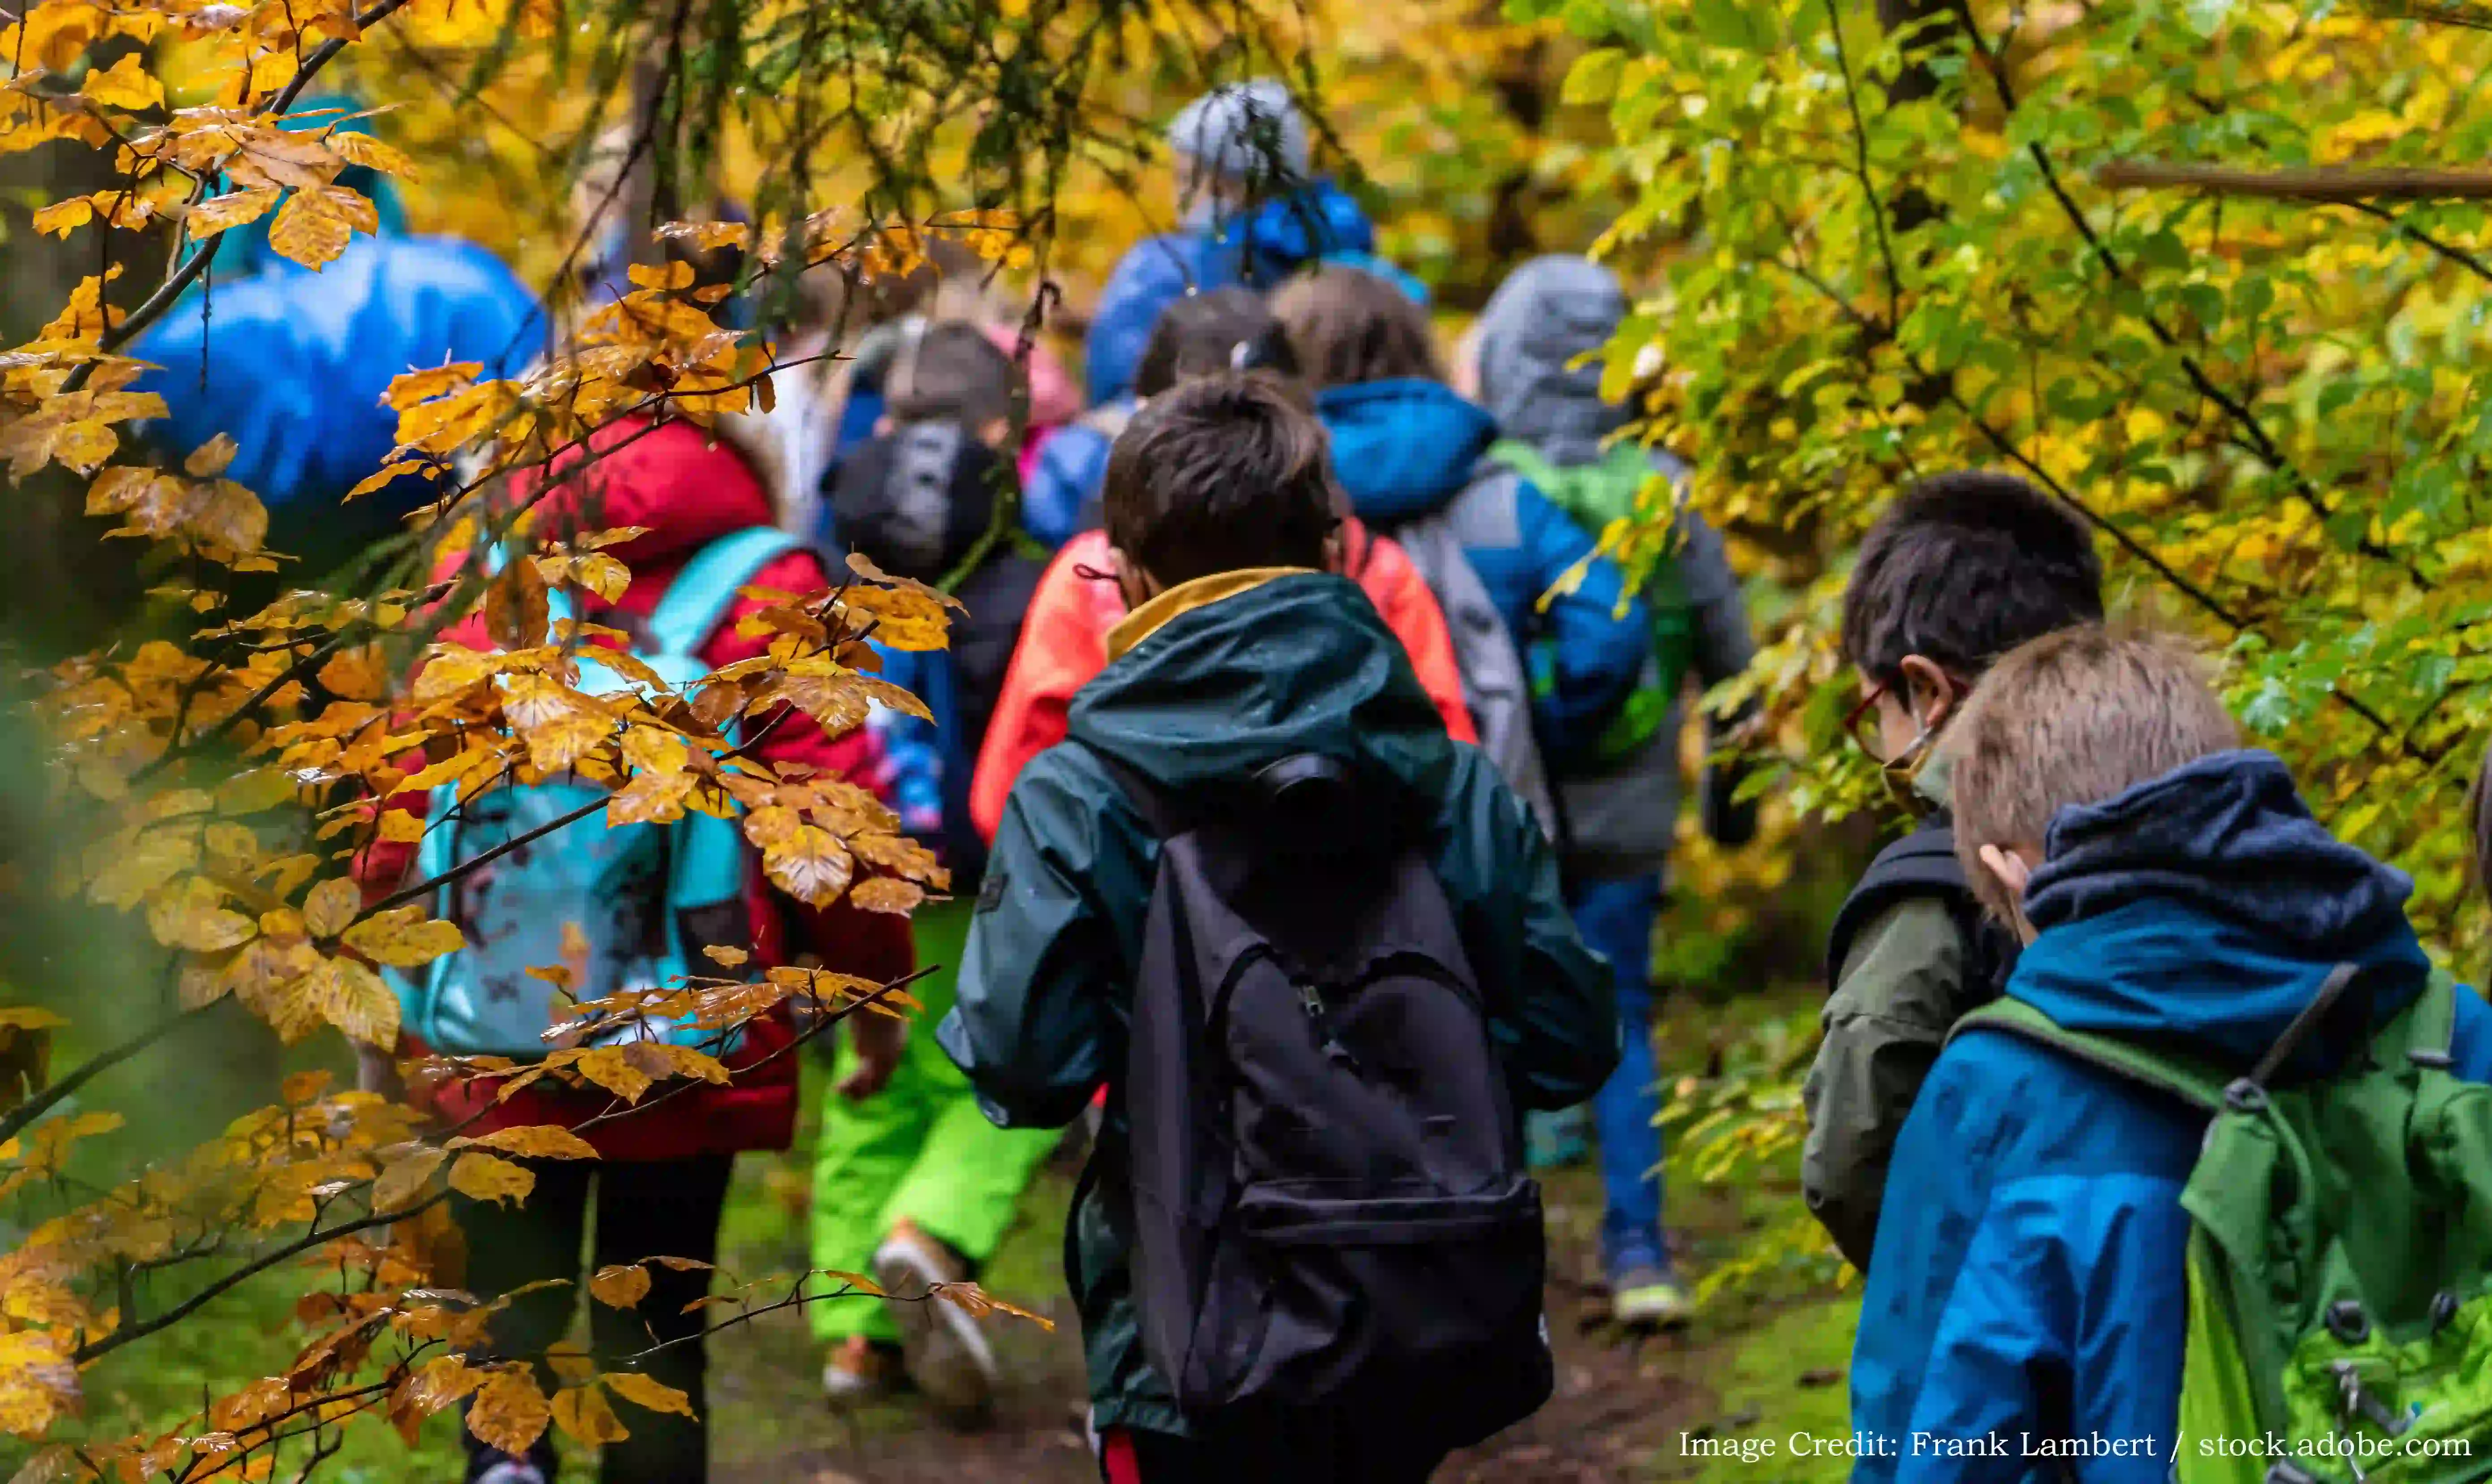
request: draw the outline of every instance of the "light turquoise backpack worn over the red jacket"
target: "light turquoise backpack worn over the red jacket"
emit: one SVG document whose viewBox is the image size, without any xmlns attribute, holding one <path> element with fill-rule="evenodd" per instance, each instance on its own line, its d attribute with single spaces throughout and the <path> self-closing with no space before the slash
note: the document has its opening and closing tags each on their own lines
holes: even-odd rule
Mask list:
<svg viewBox="0 0 2492 1484">
<path fill-rule="evenodd" d="M 698 650 L 738 588 L 797 545 L 797 538 L 773 528 L 713 540 L 658 600 L 633 655 L 670 687 L 700 680 L 710 667 Z M 553 618 L 568 618 L 561 593 L 548 605 Z M 638 690 L 588 655 L 578 665 L 586 695 Z M 461 804 L 459 784 L 441 784 L 426 809 L 419 879 L 451 871 L 611 792 L 563 774 L 486 789 Z M 698 812 L 673 824 L 623 827 L 588 814 L 441 886 L 434 916 L 459 924 L 466 949 L 411 974 L 391 971 L 406 1031 L 451 1056 L 541 1058 L 551 1051 L 546 1028 L 571 1013 L 568 996 L 531 969 L 563 966 L 578 998 L 601 998 L 680 984 L 705 946 L 750 946 L 743 829 L 735 819 Z M 591 1041 L 673 1041 L 725 1056 L 740 1033 L 638 1016 Z"/>
</svg>

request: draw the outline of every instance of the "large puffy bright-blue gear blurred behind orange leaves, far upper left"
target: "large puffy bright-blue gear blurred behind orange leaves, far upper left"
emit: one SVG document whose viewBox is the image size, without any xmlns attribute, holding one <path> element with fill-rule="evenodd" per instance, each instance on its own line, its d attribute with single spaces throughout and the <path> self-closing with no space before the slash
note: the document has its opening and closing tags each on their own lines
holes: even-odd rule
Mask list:
<svg viewBox="0 0 2492 1484">
<path fill-rule="evenodd" d="M 304 127 L 326 127 L 331 107 L 346 100 L 304 102 Z M 130 346 L 157 366 L 137 391 L 164 396 L 150 441 L 179 458 L 232 433 L 227 476 L 269 505 L 269 545 L 302 555 L 307 575 L 396 533 L 429 498 L 426 483 L 401 478 L 339 505 L 396 448 L 399 413 L 381 406 L 394 376 L 444 361 L 513 376 L 546 349 L 536 296 L 498 256 L 404 237 L 386 177 L 356 167 L 339 182 L 371 197 L 379 237 L 356 234 L 314 271 L 267 247 L 269 212 L 227 232 L 202 286 Z"/>
</svg>

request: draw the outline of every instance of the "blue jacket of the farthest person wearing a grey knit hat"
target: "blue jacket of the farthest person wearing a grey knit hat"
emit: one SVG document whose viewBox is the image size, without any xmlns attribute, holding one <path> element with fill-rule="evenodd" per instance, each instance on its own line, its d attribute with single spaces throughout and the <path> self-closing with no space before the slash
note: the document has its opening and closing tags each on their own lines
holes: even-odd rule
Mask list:
<svg viewBox="0 0 2492 1484">
<path fill-rule="evenodd" d="M 1199 222 L 1184 232 L 1164 232 L 1134 244 L 1091 314 L 1082 346 L 1082 373 L 1091 406 L 1104 406 L 1134 391 L 1134 369 L 1151 344 L 1159 311 L 1186 294 L 1229 289 L 1276 289 L 1313 261 L 1353 261 L 1396 279 L 1405 294 L 1425 301 L 1415 279 L 1391 269 L 1376 251 L 1376 224 L 1328 179 L 1273 197 L 1229 222 Z"/>
</svg>

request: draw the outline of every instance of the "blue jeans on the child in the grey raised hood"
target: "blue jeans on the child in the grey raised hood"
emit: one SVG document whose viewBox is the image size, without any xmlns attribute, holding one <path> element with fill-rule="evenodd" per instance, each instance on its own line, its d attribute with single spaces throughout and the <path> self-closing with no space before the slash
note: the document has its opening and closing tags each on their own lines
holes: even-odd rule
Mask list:
<svg viewBox="0 0 2492 1484">
<path fill-rule="evenodd" d="M 1660 874 L 1567 886 L 1575 931 L 1610 961 L 1617 981 L 1622 1048 L 1617 1071 L 1592 1096 L 1607 1198 L 1600 1250 L 1612 1275 L 1630 1267 L 1670 1270 L 1670 1247 L 1662 1245 L 1662 1130 L 1652 1123 L 1660 1113 L 1652 1086 L 1652 919 L 1660 906 Z"/>
</svg>

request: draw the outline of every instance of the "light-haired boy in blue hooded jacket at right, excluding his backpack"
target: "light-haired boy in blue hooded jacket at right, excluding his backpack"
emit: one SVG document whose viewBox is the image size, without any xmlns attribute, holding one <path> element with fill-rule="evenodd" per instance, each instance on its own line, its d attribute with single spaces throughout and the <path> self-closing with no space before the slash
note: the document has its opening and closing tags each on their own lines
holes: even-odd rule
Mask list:
<svg viewBox="0 0 2492 1484">
<path fill-rule="evenodd" d="M 1854 1482 L 2086 1457 L 2088 1484 L 2161 1484 L 2208 1113 L 2081 1046 L 2328 1078 L 2425 993 L 2412 884 L 2238 749 L 2168 637 L 2086 625 L 2009 652 L 1941 752 L 1964 874 L 2024 954 L 2014 1013 L 1951 1036 L 1894 1148 L 1852 1357 L 1852 1422 L 1889 1452 Z M 2365 993 L 2335 998 L 2347 981 Z M 2450 1063 L 2485 1081 L 2487 1008 L 2455 998 Z M 2303 1038 L 2323 1013 L 2330 1033 Z"/>
</svg>

